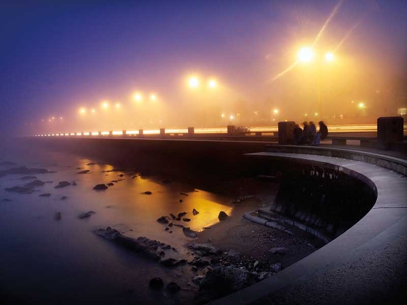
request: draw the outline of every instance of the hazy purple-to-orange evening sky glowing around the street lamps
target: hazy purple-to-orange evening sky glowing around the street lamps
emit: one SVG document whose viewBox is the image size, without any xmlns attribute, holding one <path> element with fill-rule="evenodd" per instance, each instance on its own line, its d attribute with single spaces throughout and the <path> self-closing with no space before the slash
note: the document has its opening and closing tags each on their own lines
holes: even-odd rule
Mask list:
<svg viewBox="0 0 407 305">
<path fill-rule="evenodd" d="M 3 132 L 302 120 L 318 111 L 317 65 L 293 64 L 336 6 L 313 47 L 335 55 L 319 68 L 322 117 L 374 122 L 407 104 L 405 1 L 59 3 L 2 5 Z"/>
</svg>

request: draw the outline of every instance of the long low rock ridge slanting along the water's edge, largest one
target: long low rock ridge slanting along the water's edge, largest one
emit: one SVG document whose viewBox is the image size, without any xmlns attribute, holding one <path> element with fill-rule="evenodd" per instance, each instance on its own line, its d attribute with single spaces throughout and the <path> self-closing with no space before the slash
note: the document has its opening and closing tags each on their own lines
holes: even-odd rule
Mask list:
<svg viewBox="0 0 407 305">
<path fill-rule="evenodd" d="M 111 227 L 106 229 L 97 229 L 96 234 L 113 241 L 131 251 L 140 253 L 152 260 L 159 261 L 165 255 L 164 248 L 170 246 L 157 240 L 151 240 L 147 237 L 132 238 L 122 235 L 118 230 Z"/>
</svg>

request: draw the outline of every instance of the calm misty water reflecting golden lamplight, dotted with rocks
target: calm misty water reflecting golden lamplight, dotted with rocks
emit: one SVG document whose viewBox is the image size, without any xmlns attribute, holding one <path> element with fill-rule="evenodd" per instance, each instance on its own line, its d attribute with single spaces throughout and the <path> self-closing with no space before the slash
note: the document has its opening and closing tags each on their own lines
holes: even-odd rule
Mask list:
<svg viewBox="0 0 407 305">
<path fill-rule="evenodd" d="M 217 223 L 220 210 L 232 213 L 231 198 L 200 190 L 199 185 L 161 182 L 167 177 L 131 179 L 132 173 L 127 173 L 108 190 L 94 191 L 96 184 L 117 180 L 121 172 L 102 173 L 113 167 L 87 166 L 96 161 L 78 156 L 8 147 L 1 161 L 56 171 L 36 174 L 40 180 L 53 182 L 36 188 L 39 191 L 33 194 L 5 191 L 23 186 L 27 182 L 20 179 L 23 175 L 0 177 L 0 295 L 6 303 L 190 303 L 193 293 L 188 281 L 193 274 L 189 265 L 162 268 L 92 231 L 111 226 L 127 236 L 169 243 L 184 255 L 183 245 L 190 239 L 177 227 L 172 234 L 164 231 L 157 218 L 187 211 L 186 217 L 192 219 L 187 226 L 199 231 Z M 82 170 L 77 167 L 91 173 L 77 174 Z M 63 180 L 76 181 L 77 186 L 55 189 Z M 153 195 L 144 195 L 144 191 Z M 43 193 L 51 196 L 39 197 Z M 68 199 L 61 200 L 61 196 Z M 1 201 L 6 198 L 12 201 Z M 192 216 L 193 208 L 199 215 Z M 96 214 L 90 219 L 77 218 L 89 210 Z M 62 220 L 54 219 L 56 212 L 62 213 Z M 148 283 L 156 276 L 184 289 L 175 296 L 151 291 Z"/>
</svg>

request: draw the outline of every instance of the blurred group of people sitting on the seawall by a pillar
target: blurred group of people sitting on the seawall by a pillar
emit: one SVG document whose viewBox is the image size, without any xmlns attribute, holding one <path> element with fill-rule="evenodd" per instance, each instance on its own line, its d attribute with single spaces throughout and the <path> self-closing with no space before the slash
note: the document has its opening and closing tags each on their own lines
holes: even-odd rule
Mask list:
<svg viewBox="0 0 407 305">
<path fill-rule="evenodd" d="M 319 142 L 327 137 L 328 127 L 323 121 L 319 121 L 318 125 L 319 130 L 316 131 L 316 126 L 312 121 L 309 123 L 305 121 L 303 128 L 296 124 L 293 130 L 293 144 L 319 145 Z"/>
</svg>

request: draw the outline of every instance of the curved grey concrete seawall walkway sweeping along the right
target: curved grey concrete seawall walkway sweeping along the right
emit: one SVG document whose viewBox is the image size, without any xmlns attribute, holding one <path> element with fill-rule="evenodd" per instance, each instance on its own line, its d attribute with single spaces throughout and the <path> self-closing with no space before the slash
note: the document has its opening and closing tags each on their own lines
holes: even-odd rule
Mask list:
<svg viewBox="0 0 407 305">
<path fill-rule="evenodd" d="M 274 146 L 273 150 L 279 150 L 280 145 L 272 146 Z M 298 146 L 281 146 L 282 151 L 299 149 Z M 386 295 L 390 297 L 389 293 L 394 290 L 394 285 L 400 285 L 405 281 L 407 177 L 375 165 L 375 163 L 382 163 L 380 160 L 386 160 L 385 163 L 387 166 L 390 165 L 390 168 L 400 169 L 401 163 L 401 169 L 403 169 L 405 160 L 394 160 L 396 165 L 391 165 L 388 163 L 391 162 L 388 156 L 368 154 L 367 157 L 363 157 L 368 159 L 369 163 L 367 163 L 350 160 L 353 159 L 353 154 L 356 154 L 356 158 L 360 158 L 360 151 L 309 148 L 319 154 L 309 155 L 307 150 L 301 154 L 268 151 L 246 156 L 334 167 L 364 180 L 373 189 L 375 188 L 377 199 L 374 206 L 356 225 L 323 248 L 276 275 L 211 304 L 356 304 L 369 302 L 370 299 L 374 302 L 380 297 L 385 300 Z M 305 147 L 305 149 L 309 148 Z M 332 151 L 334 151 L 333 154 Z M 308 153 L 311 153 L 311 150 Z M 347 154 L 346 156 L 351 158 L 321 156 L 324 154 L 331 156 Z M 374 158 L 376 160 L 373 160 Z"/>
</svg>

